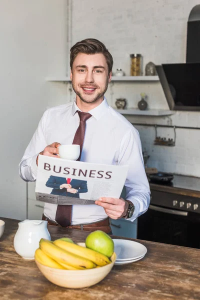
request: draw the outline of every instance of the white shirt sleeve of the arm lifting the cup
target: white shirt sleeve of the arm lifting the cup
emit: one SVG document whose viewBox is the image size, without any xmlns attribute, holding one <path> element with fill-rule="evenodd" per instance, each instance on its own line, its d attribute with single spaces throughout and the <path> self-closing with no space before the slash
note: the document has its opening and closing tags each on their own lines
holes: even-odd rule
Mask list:
<svg viewBox="0 0 200 300">
<path fill-rule="evenodd" d="M 19 163 L 19 175 L 25 181 L 36 180 L 36 158 L 39 152 L 41 152 L 47 146 L 44 133 L 47 113 L 48 111 L 46 110 L 41 117 L 38 127 L 34 132 L 27 148 L 25 149 L 23 157 Z"/>
</svg>

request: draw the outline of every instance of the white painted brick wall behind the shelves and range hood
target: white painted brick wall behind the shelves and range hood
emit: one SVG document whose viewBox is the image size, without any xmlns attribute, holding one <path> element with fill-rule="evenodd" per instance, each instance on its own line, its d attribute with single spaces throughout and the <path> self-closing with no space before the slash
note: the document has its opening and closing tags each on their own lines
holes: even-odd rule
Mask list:
<svg viewBox="0 0 200 300">
<path fill-rule="evenodd" d="M 190 10 L 199 0 L 73 0 L 72 44 L 87 37 L 105 43 L 113 59 L 113 71 L 129 75 L 130 53 L 141 53 L 143 70 L 155 64 L 185 62 L 186 28 Z M 148 108 L 167 108 L 159 83 L 116 83 L 106 97 L 111 106 L 124 96 L 136 107 L 140 92 L 148 95 Z M 200 112 L 177 112 L 167 117 L 126 116 L 131 122 L 200 127 Z M 148 166 L 160 171 L 200 176 L 200 130 L 176 129 L 175 147 L 153 145 L 153 127 L 135 126 L 143 149 L 150 155 Z M 158 128 L 160 136 L 173 138 L 173 129 Z"/>
</svg>

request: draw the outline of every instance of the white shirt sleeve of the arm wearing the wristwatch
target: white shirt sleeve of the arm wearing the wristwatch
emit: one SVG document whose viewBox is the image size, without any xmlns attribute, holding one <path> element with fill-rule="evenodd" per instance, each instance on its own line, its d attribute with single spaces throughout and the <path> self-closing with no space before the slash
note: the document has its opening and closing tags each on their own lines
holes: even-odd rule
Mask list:
<svg viewBox="0 0 200 300">
<path fill-rule="evenodd" d="M 126 199 L 134 204 L 134 213 L 130 221 L 148 209 L 150 202 L 150 189 L 146 177 L 141 141 L 138 131 L 132 127 L 122 138 L 118 156 L 119 165 L 128 165 L 125 180 Z"/>
</svg>

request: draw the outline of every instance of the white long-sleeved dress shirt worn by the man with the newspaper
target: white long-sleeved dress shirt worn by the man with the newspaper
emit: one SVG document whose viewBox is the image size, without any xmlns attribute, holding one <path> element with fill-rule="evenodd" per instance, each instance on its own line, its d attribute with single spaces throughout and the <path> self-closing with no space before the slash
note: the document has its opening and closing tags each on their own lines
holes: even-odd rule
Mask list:
<svg viewBox="0 0 200 300">
<path fill-rule="evenodd" d="M 47 109 L 30 140 L 19 164 L 19 174 L 25 181 L 36 179 L 36 157 L 53 142 L 72 144 L 79 126 L 80 110 L 75 101 Z M 128 220 L 133 221 L 149 205 L 150 190 L 146 178 L 138 131 L 120 113 L 110 107 L 104 98 L 88 111 L 81 161 L 102 164 L 129 165 L 125 181 L 126 199 L 135 207 Z M 45 203 L 44 214 L 55 220 L 57 205 Z M 95 222 L 107 217 L 103 207 L 96 204 L 73 205 L 71 224 Z"/>
</svg>

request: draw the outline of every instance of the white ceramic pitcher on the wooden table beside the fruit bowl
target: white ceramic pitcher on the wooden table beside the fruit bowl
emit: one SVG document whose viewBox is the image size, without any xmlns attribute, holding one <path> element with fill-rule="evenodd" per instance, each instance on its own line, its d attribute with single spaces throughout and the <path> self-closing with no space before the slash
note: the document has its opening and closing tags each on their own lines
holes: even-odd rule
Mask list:
<svg viewBox="0 0 200 300">
<path fill-rule="evenodd" d="M 18 223 L 14 235 L 14 249 L 25 259 L 34 259 L 34 252 L 39 247 L 40 238 L 51 240 L 47 221 L 24 220 Z"/>
</svg>

